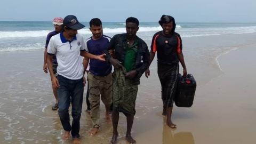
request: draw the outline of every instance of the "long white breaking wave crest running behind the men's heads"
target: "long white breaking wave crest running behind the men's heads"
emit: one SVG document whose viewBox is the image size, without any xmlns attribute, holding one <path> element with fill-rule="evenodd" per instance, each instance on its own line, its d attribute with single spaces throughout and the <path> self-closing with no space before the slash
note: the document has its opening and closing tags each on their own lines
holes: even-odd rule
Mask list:
<svg viewBox="0 0 256 144">
<path fill-rule="evenodd" d="M 158 27 L 140 27 L 140 32 L 154 32 L 162 30 L 161 26 Z M 119 34 L 125 33 L 125 28 L 103 28 L 104 34 Z M 209 36 L 209 35 L 223 35 L 223 34 L 248 34 L 255 33 L 256 26 L 248 27 L 218 27 L 218 28 L 182 28 L 180 25 L 176 26 L 176 31 L 182 37 L 193 36 Z M 24 38 L 24 37 L 46 37 L 50 30 L 35 30 L 35 31 L 0 31 L 0 38 Z M 83 35 L 91 35 L 89 28 L 78 30 L 78 33 Z"/>
</svg>

